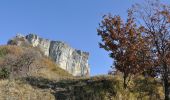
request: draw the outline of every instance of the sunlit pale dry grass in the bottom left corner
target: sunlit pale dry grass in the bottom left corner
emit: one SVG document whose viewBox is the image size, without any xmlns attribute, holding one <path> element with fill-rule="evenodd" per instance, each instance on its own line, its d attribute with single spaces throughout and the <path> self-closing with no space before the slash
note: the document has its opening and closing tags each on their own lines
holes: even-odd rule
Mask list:
<svg viewBox="0 0 170 100">
<path fill-rule="evenodd" d="M 21 81 L 0 81 L 0 100 L 55 100 L 49 90 L 35 89 Z"/>
</svg>

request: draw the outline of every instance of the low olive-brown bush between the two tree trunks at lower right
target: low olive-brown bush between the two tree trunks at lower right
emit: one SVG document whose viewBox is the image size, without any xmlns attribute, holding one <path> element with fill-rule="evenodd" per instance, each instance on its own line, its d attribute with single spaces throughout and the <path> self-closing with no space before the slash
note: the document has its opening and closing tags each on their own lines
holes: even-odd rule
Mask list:
<svg viewBox="0 0 170 100">
<path fill-rule="evenodd" d="M 159 79 L 137 77 L 134 80 L 134 86 L 131 89 L 138 99 L 146 100 L 162 100 L 163 86 Z"/>
</svg>

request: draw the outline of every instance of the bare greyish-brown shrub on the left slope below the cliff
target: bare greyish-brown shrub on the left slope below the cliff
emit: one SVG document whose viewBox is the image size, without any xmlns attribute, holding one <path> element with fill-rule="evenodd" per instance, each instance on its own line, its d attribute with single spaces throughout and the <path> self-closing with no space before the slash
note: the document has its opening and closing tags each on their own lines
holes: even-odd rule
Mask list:
<svg viewBox="0 0 170 100">
<path fill-rule="evenodd" d="M 32 65 L 36 60 L 40 59 L 42 55 L 32 48 L 25 48 L 24 50 L 25 51 L 19 55 L 6 55 L 3 63 L 0 64 L 0 69 L 8 69 L 11 77 L 27 76 L 33 70 L 31 69 Z M 36 69 L 36 67 L 34 69 Z M 2 71 L 4 72 L 4 70 Z"/>
</svg>

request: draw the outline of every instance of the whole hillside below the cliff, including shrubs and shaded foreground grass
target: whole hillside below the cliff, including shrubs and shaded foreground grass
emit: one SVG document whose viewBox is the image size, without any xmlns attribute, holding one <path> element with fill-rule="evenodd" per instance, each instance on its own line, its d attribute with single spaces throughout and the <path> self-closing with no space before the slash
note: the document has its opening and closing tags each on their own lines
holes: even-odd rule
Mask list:
<svg viewBox="0 0 170 100">
<path fill-rule="evenodd" d="M 161 100 L 163 97 L 161 83 L 156 79 L 135 78 L 130 89 L 124 90 L 120 75 L 74 77 L 32 46 L 0 46 L 0 78 L 0 100 Z"/>
</svg>

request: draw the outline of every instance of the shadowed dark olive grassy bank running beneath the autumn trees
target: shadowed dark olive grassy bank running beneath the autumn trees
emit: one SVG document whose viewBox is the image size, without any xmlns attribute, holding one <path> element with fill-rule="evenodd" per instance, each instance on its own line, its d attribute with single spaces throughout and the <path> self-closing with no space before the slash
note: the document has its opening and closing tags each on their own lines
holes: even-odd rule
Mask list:
<svg viewBox="0 0 170 100">
<path fill-rule="evenodd" d="M 131 83 L 133 86 L 130 86 L 129 90 L 123 89 L 123 81 L 118 76 L 70 78 L 60 81 L 29 77 L 25 80 L 39 89 L 50 88 L 57 100 L 163 100 L 163 88 L 154 79 L 139 77 Z"/>
</svg>

